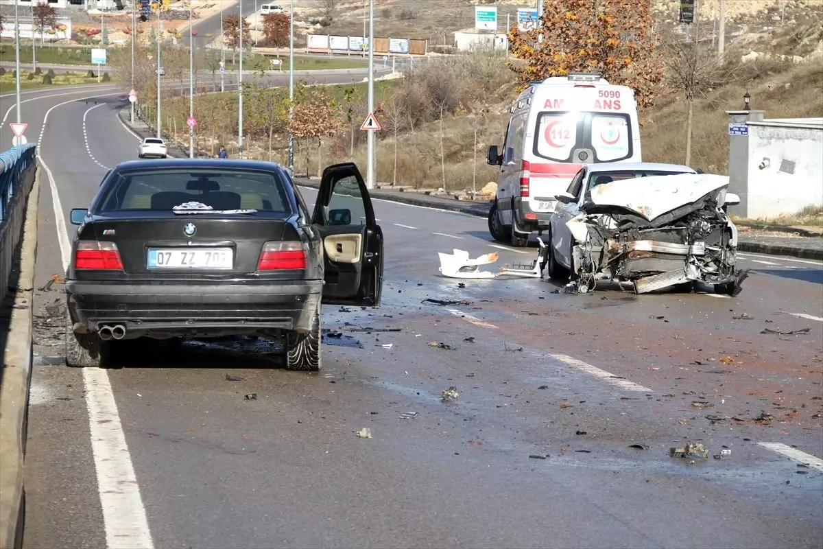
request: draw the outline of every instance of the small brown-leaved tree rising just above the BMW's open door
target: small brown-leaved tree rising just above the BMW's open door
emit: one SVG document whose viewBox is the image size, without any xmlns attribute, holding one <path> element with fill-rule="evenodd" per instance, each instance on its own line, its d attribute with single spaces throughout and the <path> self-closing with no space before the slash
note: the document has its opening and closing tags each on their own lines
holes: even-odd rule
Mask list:
<svg viewBox="0 0 823 549">
<path fill-rule="evenodd" d="M 337 129 L 337 104 L 323 87 L 307 88 L 305 85 L 295 89 L 295 101 L 292 103 L 293 114 L 289 129 L 305 150 L 306 177 L 309 176 L 308 143 L 317 139 L 318 159 L 317 173 L 323 173 L 322 147 L 323 137 L 332 137 Z"/>
</svg>

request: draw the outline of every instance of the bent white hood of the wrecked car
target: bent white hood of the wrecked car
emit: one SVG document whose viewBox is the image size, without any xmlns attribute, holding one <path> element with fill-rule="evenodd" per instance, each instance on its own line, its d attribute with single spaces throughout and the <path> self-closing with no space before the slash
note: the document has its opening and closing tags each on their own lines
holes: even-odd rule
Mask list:
<svg viewBox="0 0 823 549">
<path fill-rule="evenodd" d="M 603 212 L 609 206 L 637 213 L 649 221 L 728 187 L 728 176 L 714 174 L 656 175 L 597 185 L 580 207 Z"/>
</svg>

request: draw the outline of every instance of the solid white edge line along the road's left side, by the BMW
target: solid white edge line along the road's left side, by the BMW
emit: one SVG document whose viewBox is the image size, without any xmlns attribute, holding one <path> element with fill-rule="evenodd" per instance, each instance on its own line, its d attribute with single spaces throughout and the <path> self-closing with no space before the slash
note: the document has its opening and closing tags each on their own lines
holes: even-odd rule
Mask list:
<svg viewBox="0 0 823 549">
<path fill-rule="evenodd" d="M 93 95 L 92 97 L 105 95 Z M 40 156 L 40 151 L 49 113 L 61 105 L 74 101 L 65 101 L 46 111 L 37 141 L 37 160 L 49 175 L 63 270 L 68 268 L 72 247 L 68 240 L 57 184 L 54 182 L 49 166 Z M 105 370 L 85 368 L 83 383 L 86 388 L 91 449 L 97 472 L 97 490 L 100 492 L 100 505 L 103 509 L 106 546 L 108 549 L 153 549 L 151 531 L 146 519 L 146 508 L 140 496 L 140 487 L 137 486 L 137 477 L 134 474 L 131 455 L 128 453 L 128 444 L 126 444 L 126 436 L 123 434 L 123 426 L 120 423 L 117 403 L 114 402 L 114 393 L 109 384 L 109 374 Z"/>
</svg>

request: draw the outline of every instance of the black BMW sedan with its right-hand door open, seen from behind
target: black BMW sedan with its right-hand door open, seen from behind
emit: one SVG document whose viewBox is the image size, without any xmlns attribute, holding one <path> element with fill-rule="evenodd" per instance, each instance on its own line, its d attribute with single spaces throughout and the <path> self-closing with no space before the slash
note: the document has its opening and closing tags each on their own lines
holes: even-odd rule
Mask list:
<svg viewBox="0 0 823 549">
<path fill-rule="evenodd" d="M 286 368 L 319 370 L 320 304 L 380 302 L 383 233 L 351 163 L 309 213 L 281 165 L 128 161 L 71 217 L 67 365 L 137 337 L 285 335 Z"/>
</svg>

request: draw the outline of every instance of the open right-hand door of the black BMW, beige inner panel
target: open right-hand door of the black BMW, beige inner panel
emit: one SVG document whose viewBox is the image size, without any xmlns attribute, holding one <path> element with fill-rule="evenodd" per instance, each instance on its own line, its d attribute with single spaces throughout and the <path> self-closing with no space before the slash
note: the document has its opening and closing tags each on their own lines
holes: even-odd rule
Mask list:
<svg viewBox="0 0 823 549">
<path fill-rule="evenodd" d="M 346 162 L 323 170 L 312 223 L 323 237 L 323 303 L 379 305 L 383 231 L 356 165 Z"/>
</svg>

